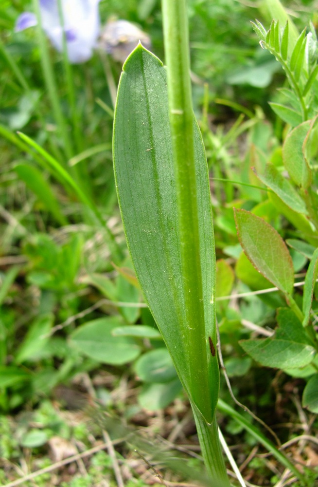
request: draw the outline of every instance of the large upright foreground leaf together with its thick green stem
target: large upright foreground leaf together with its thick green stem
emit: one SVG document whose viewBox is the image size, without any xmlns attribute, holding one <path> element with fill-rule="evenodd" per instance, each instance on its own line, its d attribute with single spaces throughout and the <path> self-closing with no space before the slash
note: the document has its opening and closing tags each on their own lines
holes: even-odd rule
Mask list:
<svg viewBox="0 0 318 487">
<path fill-rule="evenodd" d="M 192 110 L 185 2 L 163 2 L 162 12 L 167 74 L 141 46 L 124 64 L 114 123 L 115 178 L 137 277 L 190 398 L 206 466 L 216 485 L 228 486 L 215 422 L 210 188 Z"/>
</svg>

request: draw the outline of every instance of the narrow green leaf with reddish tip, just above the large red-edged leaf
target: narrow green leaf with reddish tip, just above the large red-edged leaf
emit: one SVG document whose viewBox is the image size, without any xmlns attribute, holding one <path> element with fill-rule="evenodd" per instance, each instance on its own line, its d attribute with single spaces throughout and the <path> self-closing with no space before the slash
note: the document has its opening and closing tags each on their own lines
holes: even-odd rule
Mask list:
<svg viewBox="0 0 318 487">
<path fill-rule="evenodd" d="M 291 209 L 297 213 L 307 214 L 306 205 L 296 189 L 282 176 L 273 164 L 266 164 L 264 175 L 257 174 L 257 177 L 262 183 L 272 189 Z"/>
</svg>

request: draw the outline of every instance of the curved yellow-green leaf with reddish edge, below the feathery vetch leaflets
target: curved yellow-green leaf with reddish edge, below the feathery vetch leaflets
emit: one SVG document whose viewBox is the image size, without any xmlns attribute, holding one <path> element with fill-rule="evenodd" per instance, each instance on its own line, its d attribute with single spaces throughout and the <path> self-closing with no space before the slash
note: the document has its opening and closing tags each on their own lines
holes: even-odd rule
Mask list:
<svg viewBox="0 0 318 487">
<path fill-rule="evenodd" d="M 304 143 L 312 125 L 307 120 L 286 137 L 283 144 L 283 163 L 295 184 L 304 189 L 310 186 L 312 173 L 304 156 Z"/>
</svg>

